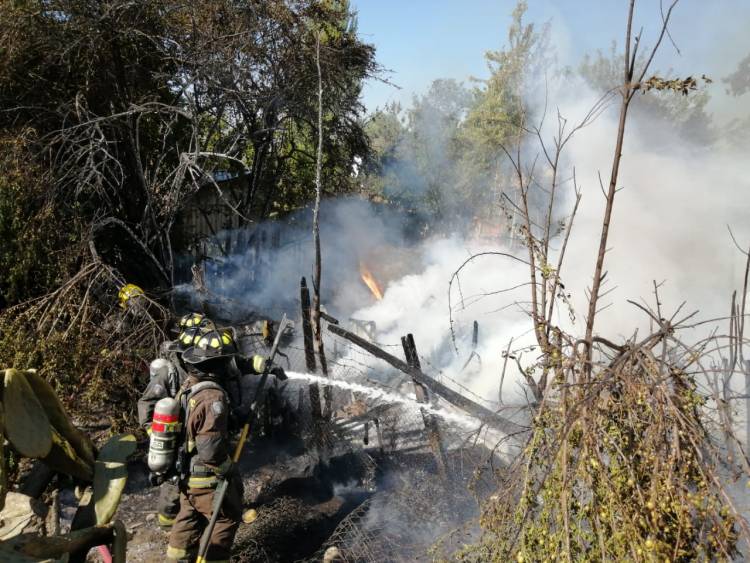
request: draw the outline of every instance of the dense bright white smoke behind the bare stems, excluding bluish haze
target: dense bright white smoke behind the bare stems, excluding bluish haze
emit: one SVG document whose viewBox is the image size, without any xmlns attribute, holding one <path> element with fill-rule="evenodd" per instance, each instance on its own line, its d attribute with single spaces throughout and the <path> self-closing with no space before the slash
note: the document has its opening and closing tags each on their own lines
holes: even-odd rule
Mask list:
<svg viewBox="0 0 750 563">
<path fill-rule="evenodd" d="M 567 92 L 574 91 L 575 99 Z M 585 95 L 583 95 L 585 94 Z M 582 85 L 552 92 L 560 112 L 570 123 L 580 119 L 597 97 Z M 637 106 L 639 100 L 634 100 Z M 575 320 L 564 306 L 558 307 L 554 322 L 580 335 L 587 309 L 586 290 L 591 285 L 599 245 L 604 196 L 617 131 L 617 108 L 604 113 L 592 125 L 579 131 L 567 149 L 569 177 L 575 167 L 583 193 L 561 271 L 566 292 L 571 294 Z M 551 112 L 554 113 L 554 110 Z M 678 318 L 698 310 L 695 320 L 726 316 L 732 290 L 741 288 L 744 257 L 730 238 L 731 226 L 738 242 L 750 244 L 750 180 L 741 163 L 739 148 L 697 147 L 671 131 L 658 131 L 659 145 L 651 139 L 656 132 L 648 122 L 639 121 L 637 107 L 626 130 L 618 192 L 608 242 L 605 270 L 607 294 L 600 301 L 596 331 L 612 340 L 631 337 L 648 329 L 648 317 L 628 300 L 655 309 L 654 282 L 659 286 L 663 316 L 669 318 L 686 301 Z M 551 140 L 547 138 L 548 142 Z M 664 144 L 664 140 L 668 143 Z M 725 143 L 722 144 L 725 146 Z M 531 159 L 539 148 L 527 148 Z M 571 206 L 572 185 L 565 198 Z M 558 211 L 565 215 L 564 209 Z M 553 241 L 559 250 L 561 240 Z M 399 337 L 414 334 L 417 349 L 437 368 L 460 381 L 486 400 L 496 401 L 505 365 L 503 352 L 513 339 L 512 349 L 521 349 L 524 367 L 533 364 L 533 334 L 528 310 L 528 267 L 496 255 L 480 256 L 454 281 L 449 308 L 449 281 L 466 259 L 481 252 L 510 252 L 502 245 L 488 246 L 459 237 L 432 239 L 421 247 L 425 264 L 391 282 L 384 299 L 357 311 L 359 319 L 375 321 L 377 339 L 397 344 Z M 523 252 L 523 251 L 522 251 Z M 523 253 L 519 254 L 523 257 Z M 377 270 L 375 271 L 377 274 Z M 376 275 L 377 277 L 377 275 Z M 526 284 L 526 285 L 522 285 Z M 497 293 L 500 290 L 512 291 Z M 453 312 L 456 346 L 451 336 L 449 311 Z M 479 322 L 476 356 L 472 353 L 471 324 Z M 687 338 L 705 335 L 719 322 L 688 331 Z M 726 327 L 723 323 L 720 328 Z M 683 335 L 685 336 L 685 335 Z M 457 350 L 456 350 L 457 348 Z M 516 357 L 519 354 L 515 354 Z M 524 400 L 523 378 L 513 359 L 506 366 L 503 399 L 506 403 Z"/>
</svg>

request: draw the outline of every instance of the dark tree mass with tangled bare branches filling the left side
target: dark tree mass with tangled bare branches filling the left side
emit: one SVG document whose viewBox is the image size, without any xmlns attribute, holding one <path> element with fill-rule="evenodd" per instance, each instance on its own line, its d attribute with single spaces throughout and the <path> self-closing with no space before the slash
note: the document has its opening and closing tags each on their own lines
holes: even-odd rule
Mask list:
<svg viewBox="0 0 750 563">
<path fill-rule="evenodd" d="M 240 224 L 309 203 L 320 129 L 311 29 L 325 35 L 321 185 L 354 189 L 374 49 L 344 1 L 19 0 L 0 4 L 0 24 L 0 363 L 39 368 L 63 395 L 86 389 L 79 413 L 105 402 L 127 413 L 166 338 L 186 201 L 221 191 L 214 173 L 229 172 L 245 182 L 236 200 L 221 194 Z M 122 308 L 131 280 L 88 245 L 112 221 L 166 271 Z"/>
</svg>

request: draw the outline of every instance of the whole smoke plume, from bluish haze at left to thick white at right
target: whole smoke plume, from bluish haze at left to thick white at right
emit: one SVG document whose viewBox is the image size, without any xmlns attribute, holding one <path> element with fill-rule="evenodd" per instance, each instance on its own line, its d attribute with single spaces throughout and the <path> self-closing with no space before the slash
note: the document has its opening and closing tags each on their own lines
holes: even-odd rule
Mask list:
<svg viewBox="0 0 750 563">
<path fill-rule="evenodd" d="M 548 97 L 575 123 L 597 96 L 580 84 L 561 86 Z M 638 102 L 628 125 L 622 190 L 610 233 L 607 307 L 597 323 L 598 332 L 614 339 L 647 327 L 647 317 L 627 300 L 653 304 L 654 282 L 668 314 L 687 301 L 686 312 L 699 310 L 696 319 L 726 316 L 731 292 L 741 287 L 743 274 L 743 256 L 727 227 L 740 244 L 750 244 L 750 204 L 745 195 L 750 193 L 750 181 L 741 166 L 740 148 L 726 140 L 698 147 L 673 131 L 653 131 L 648 121 L 639 120 Z M 572 310 L 561 304 L 556 322 L 574 334 L 583 332 L 586 289 L 604 205 L 599 175 L 609 175 L 617 126 L 614 109 L 579 131 L 565 155 L 567 171 L 562 174 L 570 178 L 575 167 L 583 198 L 561 271 Z M 525 147 L 528 159 L 538 152 L 533 143 Z M 572 183 L 562 189 L 568 194 L 556 209 L 559 217 L 569 212 Z M 262 226 L 280 233 L 278 248 L 260 261 L 247 252 L 230 255 L 222 275 L 208 277 L 209 289 L 266 314 L 294 315 L 299 279 L 312 268 L 308 215 L 305 210 L 285 223 Z M 523 257 L 523 249 L 508 248 L 505 237 L 495 242 L 447 234 L 420 240 L 410 232 L 406 214 L 354 199 L 325 202 L 321 225 L 323 302 L 329 312 L 345 324 L 349 318 L 374 321 L 375 339 L 383 344 L 397 345 L 402 335 L 413 333 L 430 364 L 426 369 L 439 370 L 488 401 L 499 400 L 505 369 L 503 402 L 524 401 L 515 360 L 527 366 L 536 357 L 526 314 L 528 268 L 497 255 L 477 257 L 454 281 L 449 306 L 451 277 L 472 254 L 499 251 Z M 560 242 L 553 241 L 553 247 L 559 250 Z M 247 275 L 251 263 L 265 265 L 253 283 Z M 383 286 L 382 301 L 376 301 L 362 282 L 363 264 Z M 476 348 L 474 321 L 479 324 Z M 696 338 L 717 324 L 702 325 Z M 506 359 L 503 353 L 509 347 L 515 353 Z"/>
</svg>

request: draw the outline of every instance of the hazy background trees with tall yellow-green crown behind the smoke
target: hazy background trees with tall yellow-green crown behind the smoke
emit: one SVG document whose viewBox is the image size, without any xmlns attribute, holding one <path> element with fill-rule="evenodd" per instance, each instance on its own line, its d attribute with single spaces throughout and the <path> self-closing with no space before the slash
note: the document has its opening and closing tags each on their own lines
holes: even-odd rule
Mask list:
<svg viewBox="0 0 750 563">
<path fill-rule="evenodd" d="M 490 76 L 468 89 L 434 81 L 402 111 L 391 105 L 368 122 L 374 158 L 364 189 L 387 198 L 445 231 L 500 212 L 507 187 L 503 146 L 519 134 L 527 112 L 528 81 L 546 63 L 544 34 L 525 24 L 526 4 L 513 12 L 504 49 L 485 55 Z"/>
</svg>

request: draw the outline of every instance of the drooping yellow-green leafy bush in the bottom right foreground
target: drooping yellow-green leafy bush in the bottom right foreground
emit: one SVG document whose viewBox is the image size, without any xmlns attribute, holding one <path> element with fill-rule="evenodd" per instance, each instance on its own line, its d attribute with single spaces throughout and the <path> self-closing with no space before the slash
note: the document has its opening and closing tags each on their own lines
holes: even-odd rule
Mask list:
<svg viewBox="0 0 750 563">
<path fill-rule="evenodd" d="M 643 354 L 643 355 L 641 355 Z M 709 461 L 692 376 L 640 350 L 584 387 L 555 381 L 464 561 L 714 561 L 736 515 Z M 666 366 L 664 366 L 666 368 Z"/>
</svg>

